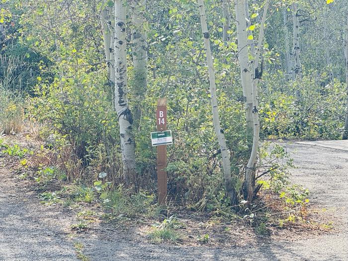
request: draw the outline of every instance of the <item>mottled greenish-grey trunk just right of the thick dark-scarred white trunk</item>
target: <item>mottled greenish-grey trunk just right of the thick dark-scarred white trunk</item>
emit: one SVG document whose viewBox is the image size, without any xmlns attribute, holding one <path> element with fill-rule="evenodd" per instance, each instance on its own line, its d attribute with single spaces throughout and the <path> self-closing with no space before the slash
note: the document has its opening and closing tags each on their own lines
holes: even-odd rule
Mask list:
<svg viewBox="0 0 348 261">
<path fill-rule="evenodd" d="M 147 89 L 147 44 L 144 30 L 146 0 L 132 0 L 132 28 L 134 84 L 134 128 L 139 128 L 141 118 L 141 102 L 144 100 Z"/>
</svg>

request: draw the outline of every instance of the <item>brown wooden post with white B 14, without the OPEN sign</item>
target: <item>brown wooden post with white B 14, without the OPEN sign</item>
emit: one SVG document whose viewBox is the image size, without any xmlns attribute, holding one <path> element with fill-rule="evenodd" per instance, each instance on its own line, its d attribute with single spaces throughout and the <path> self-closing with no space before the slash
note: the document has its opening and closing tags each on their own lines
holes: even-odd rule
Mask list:
<svg viewBox="0 0 348 261">
<path fill-rule="evenodd" d="M 167 99 L 159 98 L 156 112 L 157 131 L 167 130 Z M 158 203 L 162 204 L 167 199 L 167 145 L 157 146 L 157 184 Z"/>
</svg>

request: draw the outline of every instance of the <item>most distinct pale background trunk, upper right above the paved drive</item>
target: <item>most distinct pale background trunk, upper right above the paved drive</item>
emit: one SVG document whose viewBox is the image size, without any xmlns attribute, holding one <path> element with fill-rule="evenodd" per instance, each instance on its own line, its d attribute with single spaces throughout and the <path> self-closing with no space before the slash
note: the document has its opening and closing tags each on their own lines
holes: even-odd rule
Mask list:
<svg viewBox="0 0 348 261">
<path fill-rule="evenodd" d="M 293 77 L 302 78 L 302 66 L 300 59 L 300 22 L 298 20 L 297 14 L 297 3 L 292 3 L 292 18 L 293 18 L 293 58 L 294 58 L 294 67 L 293 67 Z"/>
</svg>

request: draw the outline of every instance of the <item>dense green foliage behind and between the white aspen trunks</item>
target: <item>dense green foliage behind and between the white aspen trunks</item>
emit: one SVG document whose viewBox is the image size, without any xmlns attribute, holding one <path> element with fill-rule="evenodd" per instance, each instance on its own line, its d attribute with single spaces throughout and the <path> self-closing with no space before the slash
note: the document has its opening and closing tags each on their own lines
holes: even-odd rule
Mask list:
<svg viewBox="0 0 348 261">
<path fill-rule="evenodd" d="M 22 123 L 11 121 L 22 121 L 25 109 L 28 121 L 44 123 L 41 137 L 62 159 L 61 168 L 68 178 L 78 176 L 91 182 L 105 172 L 113 186 L 120 189 L 118 123 L 112 105 L 113 90 L 106 77 L 100 26 L 102 9 L 113 6 L 113 2 L 3 0 L 2 4 L 0 23 L 4 25 L 5 36 L 0 47 L 0 132 L 19 132 L 20 129 L 11 126 Z M 261 138 L 338 139 L 342 136 L 347 106 L 342 41 L 345 1 L 328 5 L 299 2 L 304 76 L 294 82 L 286 81 L 284 76 L 284 54 L 289 50 L 284 49 L 282 10 L 288 12 L 285 26 L 291 32 L 290 4 L 291 1 L 273 1 L 265 29 L 260 84 Z M 231 10 L 232 7 L 231 3 Z M 228 31 L 230 40 L 223 42 L 220 0 L 206 1 L 206 8 L 221 125 L 231 155 L 233 178 L 236 186 L 241 187 L 251 133 L 246 128 L 236 26 L 232 22 Z M 251 4 L 250 12 L 255 25 L 250 30 L 255 30 L 256 39 L 261 3 Z M 196 1 L 148 0 L 144 16 L 148 85 L 140 102 L 133 98 L 136 84 L 130 33 L 127 49 L 129 102 L 132 109 L 139 102 L 142 112 L 140 127 L 134 130 L 137 159 L 134 186 L 137 191 L 156 189 L 156 150 L 151 146 L 149 134 L 155 130 L 157 98 L 165 94 L 168 129 L 174 133 L 167 168 L 170 195 L 195 209 L 214 210 L 228 205 L 212 124 Z M 132 26 L 130 20 L 129 27 Z M 291 33 L 289 37 L 292 39 Z M 5 75 L 12 75 L 13 80 L 6 82 Z M 258 173 L 273 168 L 271 179 L 282 180 L 286 173 L 283 167 L 269 167 L 265 163 L 284 157 L 279 148 L 269 154 L 260 153 Z M 111 200 L 119 200 L 117 193 L 122 191 L 115 191 Z"/>
</svg>

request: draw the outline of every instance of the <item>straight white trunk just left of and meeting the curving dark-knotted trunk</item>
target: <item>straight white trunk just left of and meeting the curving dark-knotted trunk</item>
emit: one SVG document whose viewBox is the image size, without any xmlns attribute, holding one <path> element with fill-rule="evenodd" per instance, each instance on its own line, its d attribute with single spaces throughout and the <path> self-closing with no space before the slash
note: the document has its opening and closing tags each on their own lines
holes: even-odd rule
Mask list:
<svg viewBox="0 0 348 261">
<path fill-rule="evenodd" d="M 249 68 L 247 25 L 245 20 L 245 0 L 235 0 L 238 38 L 238 60 L 241 69 L 241 79 L 245 109 L 247 114 L 247 128 L 253 129 L 253 94 L 252 77 Z"/>
</svg>

